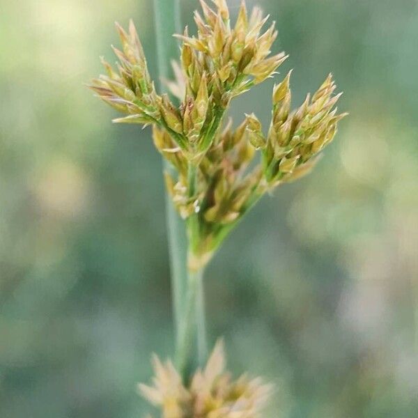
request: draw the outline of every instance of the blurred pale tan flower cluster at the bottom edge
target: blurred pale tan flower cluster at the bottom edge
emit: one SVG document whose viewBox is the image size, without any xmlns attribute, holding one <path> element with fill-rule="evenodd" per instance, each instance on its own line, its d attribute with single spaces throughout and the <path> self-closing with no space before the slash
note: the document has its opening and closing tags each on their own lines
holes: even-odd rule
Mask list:
<svg viewBox="0 0 418 418">
<path fill-rule="evenodd" d="M 265 407 L 272 386 L 260 378 L 232 380 L 225 371 L 222 342 L 218 342 L 203 371 L 185 386 L 171 362 L 153 357 L 153 386 L 139 385 L 139 392 L 161 409 L 164 418 L 256 418 Z"/>
</svg>

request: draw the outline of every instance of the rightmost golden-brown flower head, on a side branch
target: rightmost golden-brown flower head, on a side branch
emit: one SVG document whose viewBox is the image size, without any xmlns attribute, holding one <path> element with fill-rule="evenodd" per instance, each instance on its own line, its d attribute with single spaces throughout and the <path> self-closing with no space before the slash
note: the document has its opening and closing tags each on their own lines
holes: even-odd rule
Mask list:
<svg viewBox="0 0 418 418">
<path fill-rule="evenodd" d="M 318 160 L 318 154 L 336 134 L 337 123 L 347 114 L 337 114 L 335 106 L 342 93 L 333 95 L 332 75 L 318 91 L 291 111 L 291 72 L 283 82 L 274 86 L 272 123 L 265 138 L 261 125 L 252 123 L 253 137 L 261 148 L 263 171 L 269 187 L 296 180 L 308 173 Z M 251 118 L 255 118 L 251 116 Z"/>
</svg>

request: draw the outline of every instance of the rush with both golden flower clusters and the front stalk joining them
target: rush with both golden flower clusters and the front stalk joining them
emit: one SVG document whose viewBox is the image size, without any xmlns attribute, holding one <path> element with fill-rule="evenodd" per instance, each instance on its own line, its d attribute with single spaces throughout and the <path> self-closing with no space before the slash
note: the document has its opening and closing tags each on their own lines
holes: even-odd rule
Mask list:
<svg viewBox="0 0 418 418">
<path fill-rule="evenodd" d="M 114 122 L 153 127 L 155 146 L 169 162 L 167 191 L 187 229 L 189 274 L 180 307 L 178 371 L 171 363 L 164 366 L 155 359 L 155 387 L 143 387 L 150 401 L 162 405 L 164 417 L 256 416 L 256 405 L 262 402 L 254 394 L 264 394 L 265 387 L 245 379 L 231 383 L 223 378 L 222 346 L 215 348 L 206 371 L 198 371 L 189 380 L 192 341 L 196 333 L 199 336 L 195 330 L 199 277 L 225 238 L 265 193 L 311 171 L 346 116 L 335 107 L 341 93 L 334 95 L 332 75 L 292 110 L 288 72 L 274 86 L 268 130 L 254 114 L 246 115 L 233 129 L 232 121 L 225 121 L 233 98 L 277 74 L 287 56 L 284 52 L 271 56 L 277 31 L 274 24 L 263 29 L 268 17 L 260 9 L 254 8 L 248 15 L 242 1 L 233 25 L 226 1 L 212 2 L 214 9 L 201 1 L 203 15 L 194 13 L 196 36 L 190 36 L 187 29 L 176 35 L 181 51 L 180 63 L 173 63 L 176 79 L 167 82 L 171 98 L 157 92 L 132 21 L 127 31 L 116 24 L 122 43 L 122 50 L 114 48 L 116 70 L 103 60 L 107 74 L 91 84 L 104 102 L 123 114 Z M 164 1 L 155 1 L 156 13 L 162 13 L 161 3 Z M 204 345 L 203 335 L 198 340 Z M 204 357 L 201 355 L 200 366 Z M 233 415 L 240 411 L 235 404 L 245 405 L 241 415 Z"/>
</svg>

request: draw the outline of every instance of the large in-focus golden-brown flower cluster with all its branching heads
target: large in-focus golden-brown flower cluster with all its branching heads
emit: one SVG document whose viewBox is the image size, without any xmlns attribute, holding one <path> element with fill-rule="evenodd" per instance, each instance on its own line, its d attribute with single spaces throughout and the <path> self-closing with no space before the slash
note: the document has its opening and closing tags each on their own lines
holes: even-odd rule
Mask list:
<svg viewBox="0 0 418 418">
<path fill-rule="evenodd" d="M 187 29 L 177 35 L 181 63 L 173 66 L 176 81 L 167 85 L 178 105 L 156 93 L 132 22 L 127 32 L 117 25 L 123 46 L 123 52 L 114 49 L 117 71 L 103 61 L 107 75 L 91 86 L 125 114 L 115 122 L 153 125 L 156 148 L 176 169 L 166 174 L 166 183 L 187 219 L 192 269 L 210 260 L 265 192 L 308 173 L 346 116 L 335 108 L 341 94 L 334 95 L 331 75 L 292 111 L 289 72 L 274 86 L 268 134 L 254 114 L 235 130 L 231 122 L 224 126 L 231 100 L 272 77 L 287 56 L 270 56 L 277 32 L 274 24 L 263 31 L 268 18 L 261 10 L 249 16 L 242 1 L 232 26 L 226 1 L 212 1 L 215 10 L 202 0 L 203 16 L 194 15 L 196 36 Z"/>
</svg>

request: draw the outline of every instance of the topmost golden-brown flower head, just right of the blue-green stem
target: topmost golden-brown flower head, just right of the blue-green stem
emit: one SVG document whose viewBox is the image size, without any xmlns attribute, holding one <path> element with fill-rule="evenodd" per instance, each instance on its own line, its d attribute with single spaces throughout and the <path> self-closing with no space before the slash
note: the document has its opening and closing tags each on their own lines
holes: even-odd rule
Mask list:
<svg viewBox="0 0 418 418">
<path fill-rule="evenodd" d="M 223 106 L 233 96 L 271 77 L 287 56 L 281 52 L 268 57 L 277 31 L 273 23 L 261 33 L 268 17 L 263 18 L 259 8 L 254 8 L 249 17 L 242 1 L 238 19 L 231 27 L 226 1 L 213 0 L 213 3 L 216 10 L 201 0 L 203 17 L 194 13 L 197 37 L 190 37 L 187 29 L 176 36 L 183 41 L 182 64 L 189 89 L 197 94 L 202 75 L 210 75 L 209 90 Z"/>
</svg>

